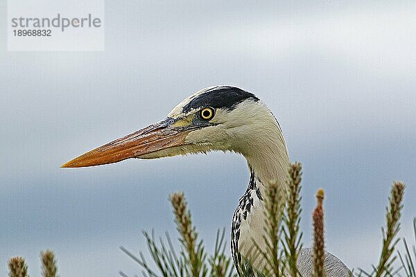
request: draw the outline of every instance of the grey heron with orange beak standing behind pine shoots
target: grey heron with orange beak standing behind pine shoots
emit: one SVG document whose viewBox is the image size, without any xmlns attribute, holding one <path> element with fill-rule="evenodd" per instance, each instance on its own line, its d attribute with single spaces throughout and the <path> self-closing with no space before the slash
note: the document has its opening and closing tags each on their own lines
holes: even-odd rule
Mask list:
<svg viewBox="0 0 416 277">
<path fill-rule="evenodd" d="M 76 159 L 64 168 L 98 166 L 129 158 L 157 159 L 210 151 L 236 152 L 247 160 L 250 181 L 232 218 L 231 250 L 239 270 L 242 257 L 250 259 L 253 240 L 264 245 L 263 197 L 268 181 L 277 180 L 286 192 L 290 164 L 281 127 L 253 93 L 232 86 L 202 89 L 178 104 L 166 119 L 123 136 Z M 310 275 L 311 255 L 303 249 L 298 260 Z M 330 254 L 329 276 L 349 276 L 343 262 Z M 256 263 L 256 262 L 255 262 Z M 261 267 L 257 262 L 254 267 Z M 335 269 L 335 275 L 331 274 Z"/>
</svg>

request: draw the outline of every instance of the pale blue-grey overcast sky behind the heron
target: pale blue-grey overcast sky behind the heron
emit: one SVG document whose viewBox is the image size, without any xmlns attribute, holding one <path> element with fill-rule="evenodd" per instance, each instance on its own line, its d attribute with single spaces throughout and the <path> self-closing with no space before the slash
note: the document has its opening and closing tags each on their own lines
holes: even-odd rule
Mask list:
<svg viewBox="0 0 416 277">
<path fill-rule="evenodd" d="M 40 276 L 46 248 L 62 277 L 139 274 L 119 246 L 145 250 L 152 228 L 175 237 L 177 190 L 209 249 L 228 234 L 248 184 L 236 154 L 59 168 L 214 84 L 255 93 L 279 120 L 304 165 L 304 244 L 322 187 L 327 250 L 370 269 L 392 181 L 408 185 L 401 236 L 416 215 L 416 3 L 382 2 L 107 1 L 105 51 L 8 52 L 0 39 L 0 275 L 20 255 Z"/>
</svg>

